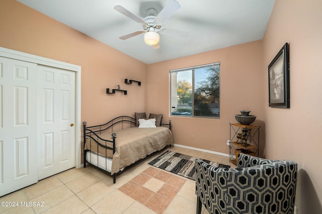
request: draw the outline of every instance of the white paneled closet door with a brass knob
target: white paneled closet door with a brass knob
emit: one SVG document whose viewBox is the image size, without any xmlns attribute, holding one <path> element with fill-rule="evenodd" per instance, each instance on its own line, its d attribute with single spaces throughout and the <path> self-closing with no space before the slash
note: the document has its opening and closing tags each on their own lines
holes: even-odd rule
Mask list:
<svg viewBox="0 0 322 214">
<path fill-rule="evenodd" d="M 75 166 L 75 72 L 38 66 L 38 179 Z"/>
</svg>

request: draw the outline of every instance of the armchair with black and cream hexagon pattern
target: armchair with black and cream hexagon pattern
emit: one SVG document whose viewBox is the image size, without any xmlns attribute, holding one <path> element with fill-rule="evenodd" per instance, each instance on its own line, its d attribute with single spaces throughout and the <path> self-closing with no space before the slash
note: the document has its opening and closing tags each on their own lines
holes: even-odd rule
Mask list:
<svg viewBox="0 0 322 214">
<path fill-rule="evenodd" d="M 196 160 L 197 213 L 293 214 L 297 163 L 239 154 L 237 168 Z"/>
</svg>

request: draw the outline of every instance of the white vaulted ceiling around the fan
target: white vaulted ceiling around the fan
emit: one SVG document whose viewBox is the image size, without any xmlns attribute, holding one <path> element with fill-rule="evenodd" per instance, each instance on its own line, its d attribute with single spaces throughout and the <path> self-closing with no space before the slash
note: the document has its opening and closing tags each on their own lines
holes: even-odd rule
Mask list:
<svg viewBox="0 0 322 214">
<path fill-rule="evenodd" d="M 161 10 L 168 0 L 17 1 L 146 64 L 261 40 L 275 2 L 177 0 L 181 8 L 162 27 L 190 32 L 188 38 L 160 35 L 160 48 L 152 49 L 144 43 L 143 34 L 119 39 L 141 30 L 141 25 L 113 8 L 121 5 L 143 19 L 146 15 L 142 8 L 155 4 Z"/>
</svg>

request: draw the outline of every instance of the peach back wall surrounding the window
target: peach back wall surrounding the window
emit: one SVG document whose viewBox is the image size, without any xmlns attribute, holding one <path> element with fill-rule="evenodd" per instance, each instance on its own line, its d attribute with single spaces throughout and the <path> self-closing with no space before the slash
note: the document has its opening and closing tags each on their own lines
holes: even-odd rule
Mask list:
<svg viewBox="0 0 322 214">
<path fill-rule="evenodd" d="M 148 112 L 162 113 L 164 121 L 172 120 L 175 143 L 229 154 L 226 142 L 229 122 L 236 122 L 235 114 L 251 110 L 257 116 L 254 125 L 263 124 L 262 58 L 262 41 L 255 41 L 150 64 L 147 67 Z M 170 116 L 169 70 L 214 62 L 220 62 L 220 119 Z"/>
</svg>

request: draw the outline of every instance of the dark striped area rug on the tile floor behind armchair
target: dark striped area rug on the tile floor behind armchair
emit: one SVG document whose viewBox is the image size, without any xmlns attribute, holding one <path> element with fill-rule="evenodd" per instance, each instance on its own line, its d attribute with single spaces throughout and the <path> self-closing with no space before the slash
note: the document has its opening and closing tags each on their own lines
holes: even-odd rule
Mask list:
<svg viewBox="0 0 322 214">
<path fill-rule="evenodd" d="M 166 171 L 187 177 L 192 180 L 196 180 L 196 169 L 195 169 L 196 157 L 180 154 L 173 151 L 166 151 L 162 155 L 158 156 L 151 162 L 150 165 L 164 169 Z M 213 162 L 210 160 L 203 161 L 217 167 L 230 168 L 229 165 Z"/>
</svg>

